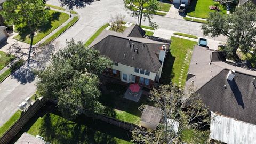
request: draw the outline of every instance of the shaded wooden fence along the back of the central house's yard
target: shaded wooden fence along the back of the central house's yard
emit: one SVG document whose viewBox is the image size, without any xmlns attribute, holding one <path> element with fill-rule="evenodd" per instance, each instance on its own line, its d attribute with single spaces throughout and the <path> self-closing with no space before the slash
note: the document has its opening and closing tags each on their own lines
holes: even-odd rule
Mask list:
<svg viewBox="0 0 256 144">
<path fill-rule="evenodd" d="M 56 105 L 58 103 L 58 100 L 51 99 L 50 102 L 52 102 Z M 132 123 L 129 123 L 129 122 L 124 122 L 124 121 L 121 121 L 121 120 L 113 118 L 113 117 L 100 115 L 100 114 L 95 114 L 93 116 L 89 116 L 88 114 L 90 113 L 90 111 L 86 110 L 86 109 L 83 109 L 83 108 L 81 108 L 80 112 L 82 114 L 85 114 L 88 117 L 93 117 L 93 118 L 99 119 L 103 122 L 109 123 L 111 125 L 115 125 L 119 128 L 125 129 L 125 130 L 133 131 L 135 128 L 140 129 L 140 127 L 136 124 L 132 124 Z"/>
</svg>

